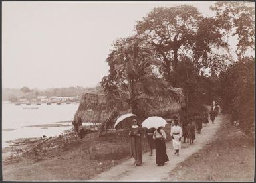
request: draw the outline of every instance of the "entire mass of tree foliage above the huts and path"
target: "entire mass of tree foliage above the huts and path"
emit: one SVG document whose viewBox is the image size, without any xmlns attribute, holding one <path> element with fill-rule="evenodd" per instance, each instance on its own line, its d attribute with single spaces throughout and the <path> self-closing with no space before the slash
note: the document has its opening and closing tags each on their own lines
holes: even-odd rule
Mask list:
<svg viewBox="0 0 256 183">
<path fill-rule="evenodd" d="M 102 78 L 104 90 L 128 102 L 134 113 L 142 97 L 174 95 L 174 88 L 183 88 L 187 107 L 220 99 L 233 115 L 245 111 L 243 102 L 253 101 L 255 8 L 218 1 L 211 10 L 213 17 L 203 17 L 191 5 L 152 9 L 136 23 L 136 35 L 115 42 L 106 59 L 110 69 Z M 251 109 L 243 115 L 252 116 Z M 249 124 L 241 127 L 251 129 Z"/>
</svg>

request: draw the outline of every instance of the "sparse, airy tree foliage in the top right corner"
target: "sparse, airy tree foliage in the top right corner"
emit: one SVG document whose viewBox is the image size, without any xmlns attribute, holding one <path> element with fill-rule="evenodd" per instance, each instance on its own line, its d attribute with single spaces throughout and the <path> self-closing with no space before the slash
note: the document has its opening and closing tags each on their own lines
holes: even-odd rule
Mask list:
<svg viewBox="0 0 256 183">
<path fill-rule="evenodd" d="M 217 27 L 227 36 L 225 46 L 229 47 L 229 36 L 238 38 L 235 50 L 237 57 L 246 56 L 248 48 L 255 49 L 255 8 L 253 3 L 243 1 L 219 1 L 211 7 L 215 11 Z"/>
</svg>

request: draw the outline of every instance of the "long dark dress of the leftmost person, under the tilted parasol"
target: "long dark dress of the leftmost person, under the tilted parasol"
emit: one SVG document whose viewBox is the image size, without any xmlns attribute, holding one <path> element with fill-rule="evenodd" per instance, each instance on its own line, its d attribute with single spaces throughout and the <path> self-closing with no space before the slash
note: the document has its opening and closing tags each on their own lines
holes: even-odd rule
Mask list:
<svg viewBox="0 0 256 183">
<path fill-rule="evenodd" d="M 131 153 L 135 160 L 134 165 L 136 166 L 142 164 L 142 136 L 143 131 L 141 127 L 130 128 Z"/>
</svg>

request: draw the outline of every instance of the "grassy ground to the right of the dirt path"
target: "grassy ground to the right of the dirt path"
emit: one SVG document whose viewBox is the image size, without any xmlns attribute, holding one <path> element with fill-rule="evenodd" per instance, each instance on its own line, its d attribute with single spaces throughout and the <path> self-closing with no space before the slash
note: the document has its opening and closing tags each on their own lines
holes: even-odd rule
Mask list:
<svg viewBox="0 0 256 183">
<path fill-rule="evenodd" d="M 254 140 L 223 118 L 215 139 L 178 164 L 166 180 L 171 181 L 253 181 Z"/>
</svg>

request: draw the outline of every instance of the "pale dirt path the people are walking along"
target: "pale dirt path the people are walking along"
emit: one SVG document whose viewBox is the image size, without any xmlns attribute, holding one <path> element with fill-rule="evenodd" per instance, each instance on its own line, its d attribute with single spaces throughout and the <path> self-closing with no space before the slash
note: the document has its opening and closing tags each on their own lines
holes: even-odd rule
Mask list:
<svg viewBox="0 0 256 183">
<path fill-rule="evenodd" d="M 170 172 L 174 170 L 177 164 L 184 161 L 193 153 L 197 152 L 206 143 L 210 143 L 214 138 L 215 132 L 221 124 L 222 115 L 215 119 L 215 124 L 208 124 L 208 127 L 203 127 L 201 134 L 195 134 L 195 142 L 193 145 L 182 143 L 180 156 L 174 155 L 172 142 L 166 143 L 169 162 L 164 166 L 156 166 L 156 156 L 148 156 L 148 153 L 143 154 L 142 166 L 133 166 L 134 160 L 131 158 L 122 164 L 111 168 L 110 170 L 91 178 L 96 181 L 160 181 L 168 177 Z M 183 137 L 182 137 L 183 141 Z"/>
</svg>

